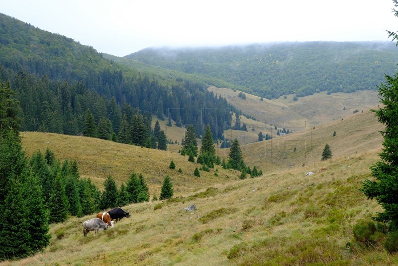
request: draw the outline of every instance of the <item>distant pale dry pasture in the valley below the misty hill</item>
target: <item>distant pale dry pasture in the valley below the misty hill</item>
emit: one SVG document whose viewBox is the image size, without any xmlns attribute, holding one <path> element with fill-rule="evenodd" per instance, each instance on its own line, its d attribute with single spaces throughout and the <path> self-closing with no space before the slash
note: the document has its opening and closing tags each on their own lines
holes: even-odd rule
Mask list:
<svg viewBox="0 0 398 266">
<path fill-rule="evenodd" d="M 287 95 L 277 100 L 264 99 L 245 93 L 246 100 L 238 97 L 240 91 L 210 86 L 214 94 L 225 97 L 245 114 L 250 115 L 263 124 L 277 125 L 293 131 L 301 131 L 333 120 L 341 120 L 353 114 L 355 110 L 367 111 L 379 104 L 378 92 L 373 90 L 354 93 L 316 93 L 293 101 L 294 95 Z M 345 108 L 345 110 L 344 110 Z"/>
</svg>

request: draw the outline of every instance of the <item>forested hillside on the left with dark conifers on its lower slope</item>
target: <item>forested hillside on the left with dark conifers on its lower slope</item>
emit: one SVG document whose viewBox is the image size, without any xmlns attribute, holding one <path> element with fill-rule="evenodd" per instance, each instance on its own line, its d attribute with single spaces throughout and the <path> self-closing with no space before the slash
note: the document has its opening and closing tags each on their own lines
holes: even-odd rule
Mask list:
<svg viewBox="0 0 398 266">
<path fill-rule="evenodd" d="M 113 134 L 144 145 L 148 139 L 134 139 L 131 132 L 145 124 L 140 136 L 149 138 L 151 115 L 157 115 L 180 127 L 195 125 L 198 135 L 209 124 L 213 136 L 222 138 L 236 111 L 204 83 L 140 73 L 91 46 L 1 13 L 0 25 L 0 88 L 16 92 L 22 131 L 106 139 Z"/>
</svg>

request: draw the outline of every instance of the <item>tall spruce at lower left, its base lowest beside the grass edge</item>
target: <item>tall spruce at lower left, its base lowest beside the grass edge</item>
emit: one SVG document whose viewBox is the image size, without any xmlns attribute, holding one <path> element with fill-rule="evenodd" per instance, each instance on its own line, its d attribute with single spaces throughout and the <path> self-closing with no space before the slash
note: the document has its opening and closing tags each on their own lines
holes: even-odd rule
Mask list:
<svg viewBox="0 0 398 266">
<path fill-rule="evenodd" d="M 51 238 L 48 233 L 49 210 L 44 206 L 42 194 L 39 179 L 29 171 L 23 184 L 22 195 L 26 202 L 26 221 L 30 234 L 28 246 L 32 251 L 42 251 L 48 246 Z"/>
</svg>

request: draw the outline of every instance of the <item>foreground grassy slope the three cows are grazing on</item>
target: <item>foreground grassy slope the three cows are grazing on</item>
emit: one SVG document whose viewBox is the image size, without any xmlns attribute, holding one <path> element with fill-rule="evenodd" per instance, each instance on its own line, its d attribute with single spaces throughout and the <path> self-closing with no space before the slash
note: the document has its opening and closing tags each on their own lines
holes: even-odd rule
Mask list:
<svg viewBox="0 0 398 266">
<path fill-rule="evenodd" d="M 163 203 L 128 205 L 123 209 L 131 218 L 86 238 L 82 223 L 94 216 L 71 218 L 51 225 L 50 246 L 43 253 L 3 264 L 394 264 L 397 255 L 380 246 L 361 248 L 352 236 L 359 219 L 381 210 L 359 191 L 377 159 L 376 150 L 335 156 L 310 164 L 310 176 L 298 167 Z M 192 204 L 195 211 L 182 210 Z"/>
</svg>

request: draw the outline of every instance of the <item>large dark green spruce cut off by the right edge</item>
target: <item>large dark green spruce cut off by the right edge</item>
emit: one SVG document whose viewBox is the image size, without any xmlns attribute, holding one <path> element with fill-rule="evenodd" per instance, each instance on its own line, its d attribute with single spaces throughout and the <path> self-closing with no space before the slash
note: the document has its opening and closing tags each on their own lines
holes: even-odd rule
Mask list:
<svg viewBox="0 0 398 266">
<path fill-rule="evenodd" d="M 398 2 L 395 2 L 395 7 Z M 398 10 L 394 9 L 395 16 Z M 397 41 L 398 35 L 389 31 L 389 36 Z M 368 199 L 376 199 L 377 203 L 384 209 L 374 219 L 390 225 L 390 230 L 398 231 L 398 72 L 394 77 L 385 76 L 385 84 L 378 86 L 381 106 L 375 113 L 378 121 L 386 126 L 380 133 L 383 135 L 383 148 L 379 153 L 380 161 L 372 164 L 370 170 L 374 180 L 366 179 L 361 191 Z"/>
</svg>

